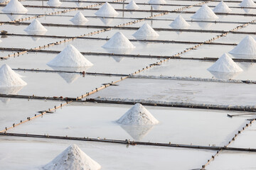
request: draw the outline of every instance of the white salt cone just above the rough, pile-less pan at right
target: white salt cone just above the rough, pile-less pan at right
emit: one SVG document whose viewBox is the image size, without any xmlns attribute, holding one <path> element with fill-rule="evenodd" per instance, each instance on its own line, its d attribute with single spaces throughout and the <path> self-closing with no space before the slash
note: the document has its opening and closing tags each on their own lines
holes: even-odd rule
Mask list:
<svg viewBox="0 0 256 170">
<path fill-rule="evenodd" d="M 227 53 L 224 53 L 208 70 L 210 72 L 242 72 L 242 69 Z"/>
</svg>

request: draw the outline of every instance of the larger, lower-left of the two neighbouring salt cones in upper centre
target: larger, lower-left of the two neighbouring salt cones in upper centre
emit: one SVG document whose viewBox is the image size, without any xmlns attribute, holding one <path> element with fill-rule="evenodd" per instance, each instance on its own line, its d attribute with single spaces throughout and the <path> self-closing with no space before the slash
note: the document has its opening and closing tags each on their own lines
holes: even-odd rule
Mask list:
<svg viewBox="0 0 256 170">
<path fill-rule="evenodd" d="M 115 33 L 102 47 L 113 49 L 130 49 L 135 46 L 122 33 Z"/>
</svg>

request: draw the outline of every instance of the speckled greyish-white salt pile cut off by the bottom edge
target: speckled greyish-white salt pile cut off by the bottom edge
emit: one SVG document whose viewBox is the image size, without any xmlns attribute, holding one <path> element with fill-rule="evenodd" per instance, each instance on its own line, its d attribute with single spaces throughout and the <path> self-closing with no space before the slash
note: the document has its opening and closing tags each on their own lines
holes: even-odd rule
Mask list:
<svg viewBox="0 0 256 170">
<path fill-rule="evenodd" d="M 51 162 L 43 166 L 46 170 L 98 170 L 101 166 L 92 160 L 77 145 L 71 145 Z"/>
</svg>

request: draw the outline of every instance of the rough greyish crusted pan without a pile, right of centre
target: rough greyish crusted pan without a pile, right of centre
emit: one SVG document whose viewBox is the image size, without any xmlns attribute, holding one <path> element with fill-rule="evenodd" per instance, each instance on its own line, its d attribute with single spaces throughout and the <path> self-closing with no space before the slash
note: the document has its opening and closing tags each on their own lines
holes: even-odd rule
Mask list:
<svg viewBox="0 0 256 170">
<path fill-rule="evenodd" d="M 219 105 L 255 106 L 253 84 L 229 84 L 163 79 L 125 79 L 92 97 L 146 99 Z"/>
</svg>

